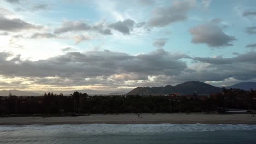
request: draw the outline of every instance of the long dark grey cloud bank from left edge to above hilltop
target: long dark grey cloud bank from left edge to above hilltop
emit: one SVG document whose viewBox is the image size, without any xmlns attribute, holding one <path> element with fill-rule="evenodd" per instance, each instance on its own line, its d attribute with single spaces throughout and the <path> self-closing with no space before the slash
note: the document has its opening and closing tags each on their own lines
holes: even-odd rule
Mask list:
<svg viewBox="0 0 256 144">
<path fill-rule="evenodd" d="M 145 79 L 147 75 L 152 74 L 177 75 L 187 68 L 186 63 L 179 60 L 187 57 L 186 55 L 168 53 L 162 49 L 138 56 L 107 50 L 67 52 L 65 55 L 45 60 L 25 60 L 19 63 L 7 60 L 11 56 L 10 53 L 0 52 L 0 56 L 0 75 L 31 78 L 57 76 L 62 79 L 83 80 L 105 76 L 117 80 L 121 75 L 137 75 L 135 77 Z"/>
</svg>

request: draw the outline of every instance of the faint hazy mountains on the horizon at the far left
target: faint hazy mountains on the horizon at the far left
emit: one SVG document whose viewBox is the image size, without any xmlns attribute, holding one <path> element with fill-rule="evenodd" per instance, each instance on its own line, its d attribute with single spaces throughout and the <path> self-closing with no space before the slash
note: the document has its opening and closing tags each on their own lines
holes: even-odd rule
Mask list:
<svg viewBox="0 0 256 144">
<path fill-rule="evenodd" d="M 16 95 L 16 96 L 39 96 L 39 95 L 41 95 L 39 93 L 19 91 L 19 90 L 16 90 L 16 89 L 11 89 L 9 91 L 7 91 L 7 90 L 0 91 L 0 96 L 8 96 L 10 94 L 9 92 L 12 95 Z"/>
</svg>

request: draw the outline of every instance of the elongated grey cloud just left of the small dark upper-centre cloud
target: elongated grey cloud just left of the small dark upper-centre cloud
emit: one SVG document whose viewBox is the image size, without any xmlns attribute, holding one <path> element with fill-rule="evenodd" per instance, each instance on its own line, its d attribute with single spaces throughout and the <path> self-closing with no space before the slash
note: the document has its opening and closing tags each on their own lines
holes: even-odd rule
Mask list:
<svg viewBox="0 0 256 144">
<path fill-rule="evenodd" d="M 105 23 L 97 23 L 94 26 L 90 26 L 84 21 L 65 21 L 62 23 L 62 26 L 56 28 L 54 33 L 66 33 L 66 32 L 79 32 L 79 31 L 95 31 L 104 35 L 112 34 L 109 28 L 105 28 Z"/>
</svg>

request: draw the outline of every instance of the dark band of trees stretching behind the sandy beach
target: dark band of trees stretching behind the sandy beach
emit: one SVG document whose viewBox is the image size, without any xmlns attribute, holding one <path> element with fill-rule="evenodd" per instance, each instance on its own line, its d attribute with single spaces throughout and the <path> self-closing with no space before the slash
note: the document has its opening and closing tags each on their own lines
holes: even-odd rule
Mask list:
<svg viewBox="0 0 256 144">
<path fill-rule="evenodd" d="M 208 96 L 169 95 L 111 95 L 89 96 L 74 92 L 69 96 L 62 93 L 44 93 L 39 97 L 0 97 L 0 115 L 90 114 L 90 113 L 165 113 L 165 112 L 211 112 L 223 109 L 255 110 L 256 91 L 225 89 L 222 93 Z"/>
</svg>

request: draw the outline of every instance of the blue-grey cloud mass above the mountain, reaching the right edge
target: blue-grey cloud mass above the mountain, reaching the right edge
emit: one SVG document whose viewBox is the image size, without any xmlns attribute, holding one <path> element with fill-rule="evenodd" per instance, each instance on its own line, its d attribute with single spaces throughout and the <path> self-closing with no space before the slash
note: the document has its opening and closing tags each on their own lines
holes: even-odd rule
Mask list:
<svg viewBox="0 0 256 144">
<path fill-rule="evenodd" d="M 248 52 L 232 58 L 195 57 L 195 61 L 207 64 L 200 68 L 199 71 L 190 73 L 190 76 L 194 76 L 196 79 L 204 81 L 224 81 L 230 77 L 233 77 L 236 80 L 255 79 L 255 57 L 256 52 Z"/>
</svg>

